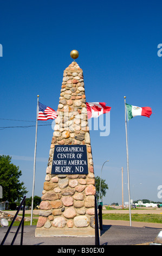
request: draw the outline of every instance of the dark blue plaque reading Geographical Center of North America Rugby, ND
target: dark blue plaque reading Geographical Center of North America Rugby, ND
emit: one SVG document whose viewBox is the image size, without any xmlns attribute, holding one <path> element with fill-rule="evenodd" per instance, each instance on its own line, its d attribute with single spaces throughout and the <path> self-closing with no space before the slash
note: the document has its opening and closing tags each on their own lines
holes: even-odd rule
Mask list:
<svg viewBox="0 0 162 256">
<path fill-rule="evenodd" d="M 51 174 L 88 174 L 86 145 L 55 145 Z"/>
</svg>

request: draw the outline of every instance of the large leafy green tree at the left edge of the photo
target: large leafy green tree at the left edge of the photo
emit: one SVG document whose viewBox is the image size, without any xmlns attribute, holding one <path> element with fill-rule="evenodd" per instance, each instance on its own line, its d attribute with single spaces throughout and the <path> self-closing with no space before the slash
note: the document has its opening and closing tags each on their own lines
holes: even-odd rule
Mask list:
<svg viewBox="0 0 162 256">
<path fill-rule="evenodd" d="M 3 188 L 3 201 L 15 202 L 24 197 L 28 191 L 24 187 L 24 182 L 20 182 L 19 178 L 22 175 L 19 166 L 11 163 L 11 157 L 0 156 L 0 185 Z"/>
</svg>

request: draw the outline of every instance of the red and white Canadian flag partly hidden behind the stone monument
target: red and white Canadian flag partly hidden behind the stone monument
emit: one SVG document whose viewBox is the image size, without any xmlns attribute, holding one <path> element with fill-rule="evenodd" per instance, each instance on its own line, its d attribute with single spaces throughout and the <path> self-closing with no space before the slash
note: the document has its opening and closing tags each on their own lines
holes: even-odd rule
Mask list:
<svg viewBox="0 0 162 256">
<path fill-rule="evenodd" d="M 105 102 L 86 102 L 86 105 L 88 119 L 111 111 L 111 107 L 107 107 Z"/>
</svg>

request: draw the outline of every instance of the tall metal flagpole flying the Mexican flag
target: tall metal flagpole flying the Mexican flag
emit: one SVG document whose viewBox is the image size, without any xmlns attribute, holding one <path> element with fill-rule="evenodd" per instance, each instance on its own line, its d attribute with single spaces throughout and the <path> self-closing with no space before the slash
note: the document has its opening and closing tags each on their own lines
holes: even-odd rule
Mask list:
<svg viewBox="0 0 162 256">
<path fill-rule="evenodd" d="M 126 96 L 124 96 L 125 101 L 125 126 L 126 126 L 126 149 L 127 149 L 127 177 L 128 177 L 128 198 L 129 198 L 129 222 L 132 226 L 131 221 L 131 197 L 130 197 L 130 188 L 129 188 L 129 159 L 128 159 L 128 139 L 127 139 L 127 117 L 126 117 Z"/>
</svg>

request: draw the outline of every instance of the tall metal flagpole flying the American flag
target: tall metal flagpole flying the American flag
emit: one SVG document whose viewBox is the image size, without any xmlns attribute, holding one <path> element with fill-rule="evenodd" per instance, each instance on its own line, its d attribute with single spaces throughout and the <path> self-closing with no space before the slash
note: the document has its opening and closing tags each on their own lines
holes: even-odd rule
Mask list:
<svg viewBox="0 0 162 256">
<path fill-rule="evenodd" d="M 33 171 L 33 192 L 32 192 L 32 198 L 31 198 L 31 220 L 30 220 L 30 225 L 32 225 L 32 221 L 33 221 L 35 166 L 36 166 L 36 145 L 37 145 L 37 127 L 38 127 L 38 108 L 39 108 L 39 95 L 37 95 L 36 133 L 35 133 L 34 171 Z"/>
</svg>

